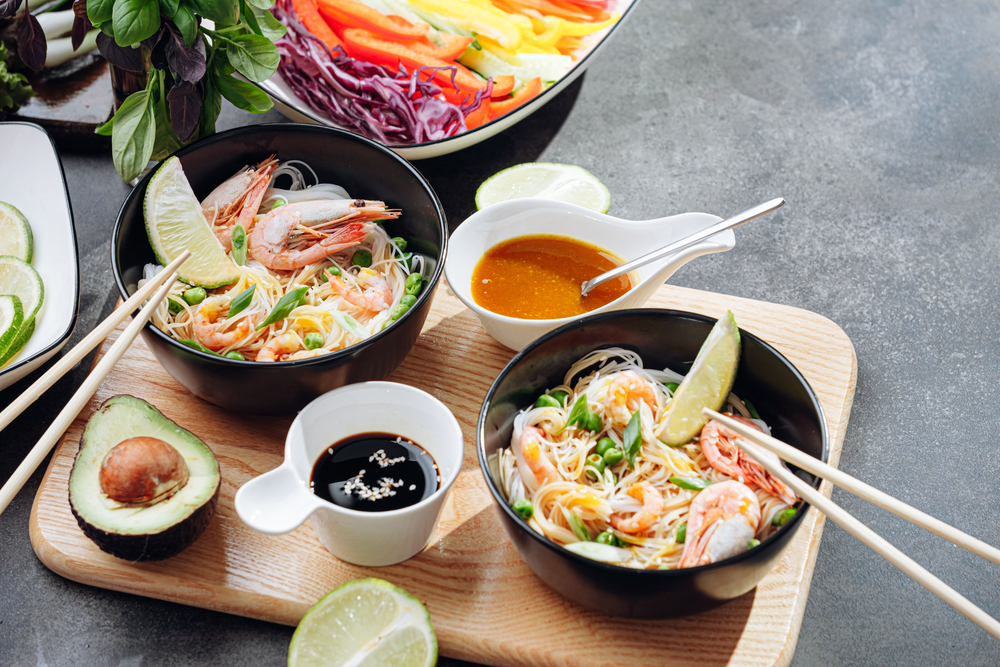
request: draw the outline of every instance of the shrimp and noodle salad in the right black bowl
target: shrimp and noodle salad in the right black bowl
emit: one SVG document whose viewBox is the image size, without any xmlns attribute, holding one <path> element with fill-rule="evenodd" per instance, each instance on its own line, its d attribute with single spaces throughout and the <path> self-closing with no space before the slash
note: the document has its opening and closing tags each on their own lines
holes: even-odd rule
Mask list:
<svg viewBox="0 0 1000 667">
<path fill-rule="evenodd" d="M 508 503 L 557 544 L 624 567 L 695 567 L 759 544 L 798 498 L 717 422 L 685 445 L 658 439 L 683 379 L 622 348 L 577 361 L 490 459 Z M 770 434 L 732 393 L 722 411 Z"/>
</svg>

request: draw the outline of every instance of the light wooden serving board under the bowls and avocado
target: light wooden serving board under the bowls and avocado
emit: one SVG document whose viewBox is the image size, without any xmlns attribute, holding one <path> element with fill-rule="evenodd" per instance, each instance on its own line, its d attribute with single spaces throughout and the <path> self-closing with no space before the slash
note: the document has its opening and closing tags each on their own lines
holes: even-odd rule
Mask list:
<svg viewBox="0 0 1000 667">
<path fill-rule="evenodd" d="M 797 308 L 664 286 L 647 304 L 736 321 L 787 356 L 823 403 L 836 465 L 857 377 L 854 347 L 830 320 Z M 105 342 L 105 349 L 118 333 Z M 442 281 L 423 333 L 389 378 L 443 401 L 465 434 L 465 462 L 430 546 L 392 567 L 338 561 L 310 523 L 280 537 L 243 525 L 233 507 L 247 480 L 277 467 L 291 417 L 235 415 L 195 398 L 137 339 L 70 427 L 31 511 L 42 562 L 74 581 L 294 625 L 327 591 L 380 577 L 426 602 L 441 654 L 487 665 L 787 665 L 795 651 L 823 520 L 810 512 L 777 567 L 750 593 L 711 612 L 669 621 L 616 619 L 546 587 L 507 539 L 479 470 L 475 427 L 486 391 L 514 353 L 493 341 Z M 128 393 L 190 428 L 219 458 L 223 483 L 205 534 L 179 556 L 129 563 L 100 551 L 70 513 L 67 480 L 84 421 Z M 829 495 L 829 486 L 824 484 Z M 682 638 L 682 639 L 680 639 Z"/>
</svg>

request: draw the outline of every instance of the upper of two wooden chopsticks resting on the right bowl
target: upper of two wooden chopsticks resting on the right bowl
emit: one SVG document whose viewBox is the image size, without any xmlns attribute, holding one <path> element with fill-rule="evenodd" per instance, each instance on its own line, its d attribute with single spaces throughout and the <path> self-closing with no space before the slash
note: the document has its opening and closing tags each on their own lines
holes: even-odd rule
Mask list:
<svg viewBox="0 0 1000 667">
<path fill-rule="evenodd" d="M 963 549 L 971 551 L 991 563 L 1000 565 L 1000 549 L 997 549 L 982 540 L 977 540 L 971 535 L 963 533 L 958 528 L 949 526 L 940 519 L 935 519 L 929 514 L 924 514 L 916 507 L 907 505 L 903 501 L 893 498 L 888 493 L 879 491 L 875 487 L 869 486 L 861 480 L 851 477 L 846 472 L 837 470 L 833 466 L 827 465 L 819 459 L 813 458 L 805 452 L 795 449 L 777 438 L 765 435 L 760 431 L 748 427 L 746 424 L 741 424 L 740 422 L 734 419 L 729 419 L 725 415 L 721 415 L 717 412 L 709 410 L 705 414 L 711 415 L 713 419 L 718 420 L 720 423 L 724 424 L 736 433 L 739 433 L 744 438 L 750 439 L 764 449 L 771 450 L 785 461 L 802 468 L 806 472 L 828 479 L 837 486 L 850 491 L 859 498 L 864 498 L 873 505 L 878 505 L 882 509 L 892 512 L 901 519 L 906 519 L 910 523 L 934 533 L 938 537 L 943 537 L 952 544 L 956 544 Z"/>
</svg>

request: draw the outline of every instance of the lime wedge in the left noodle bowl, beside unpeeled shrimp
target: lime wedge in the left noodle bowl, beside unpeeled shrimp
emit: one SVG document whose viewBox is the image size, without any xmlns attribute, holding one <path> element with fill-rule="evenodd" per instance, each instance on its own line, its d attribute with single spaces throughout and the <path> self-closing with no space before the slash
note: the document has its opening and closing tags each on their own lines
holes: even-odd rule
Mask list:
<svg viewBox="0 0 1000 667">
<path fill-rule="evenodd" d="M 213 289 L 239 280 L 239 267 L 208 226 L 180 160 L 172 157 L 157 170 L 146 186 L 143 206 L 149 245 L 161 264 L 191 251 L 179 269 L 183 281 Z"/>
</svg>

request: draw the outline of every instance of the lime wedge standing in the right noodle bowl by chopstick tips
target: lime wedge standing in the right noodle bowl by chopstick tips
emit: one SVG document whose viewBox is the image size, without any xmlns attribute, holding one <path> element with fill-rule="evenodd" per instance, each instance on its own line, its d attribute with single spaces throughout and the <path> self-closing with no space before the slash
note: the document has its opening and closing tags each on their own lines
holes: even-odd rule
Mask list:
<svg viewBox="0 0 1000 667">
<path fill-rule="evenodd" d="M 732 311 L 719 318 L 701 344 L 691 370 L 674 392 L 670 409 L 656 437 L 668 445 L 683 445 L 708 423 L 702 408 L 718 410 L 729 397 L 740 363 L 740 330 Z"/>
</svg>

